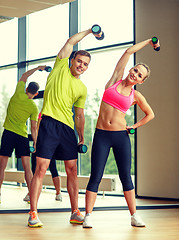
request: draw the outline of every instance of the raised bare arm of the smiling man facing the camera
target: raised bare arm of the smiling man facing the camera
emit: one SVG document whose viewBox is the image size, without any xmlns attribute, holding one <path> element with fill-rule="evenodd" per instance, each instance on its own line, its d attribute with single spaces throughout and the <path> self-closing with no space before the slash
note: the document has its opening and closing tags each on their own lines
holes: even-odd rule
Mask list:
<svg viewBox="0 0 179 240">
<path fill-rule="evenodd" d="M 84 37 L 86 37 L 90 33 L 92 33 L 92 31 L 91 29 L 88 29 L 86 31 L 76 33 L 75 35 L 70 37 L 65 43 L 65 45 L 63 46 L 63 48 L 58 53 L 58 57 L 60 59 L 70 57 L 73 51 L 73 46 L 76 45 L 78 42 L 80 42 Z"/>
</svg>

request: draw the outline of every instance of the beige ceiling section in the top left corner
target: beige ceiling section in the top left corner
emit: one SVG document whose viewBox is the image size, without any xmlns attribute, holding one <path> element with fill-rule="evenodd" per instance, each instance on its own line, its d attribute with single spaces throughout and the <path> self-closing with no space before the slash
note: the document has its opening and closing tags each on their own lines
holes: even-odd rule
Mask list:
<svg viewBox="0 0 179 240">
<path fill-rule="evenodd" d="M 0 0 L 0 23 L 76 0 Z"/>
</svg>

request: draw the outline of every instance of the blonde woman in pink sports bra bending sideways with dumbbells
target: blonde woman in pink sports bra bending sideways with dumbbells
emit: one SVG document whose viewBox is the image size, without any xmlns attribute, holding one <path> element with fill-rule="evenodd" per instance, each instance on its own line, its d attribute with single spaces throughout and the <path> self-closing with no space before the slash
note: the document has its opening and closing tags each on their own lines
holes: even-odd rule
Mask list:
<svg viewBox="0 0 179 240">
<path fill-rule="evenodd" d="M 135 192 L 130 175 L 131 145 L 128 131 L 130 128 L 141 127 L 154 118 L 154 113 L 145 97 L 133 88 L 136 84 L 142 84 L 149 77 L 149 67 L 139 63 L 129 70 L 129 74 L 125 79 L 122 80 L 122 78 L 130 56 L 147 45 L 155 47 L 152 39 L 148 39 L 128 48 L 119 59 L 111 79 L 105 86 L 93 138 L 91 176 L 86 190 L 84 228 L 92 228 L 91 214 L 110 148 L 113 149 L 119 178 L 131 214 L 131 225 L 136 227 L 145 226 L 140 216 L 136 214 Z M 144 117 L 133 126 L 127 126 L 125 113 L 134 104 L 138 104 L 144 112 Z"/>
</svg>

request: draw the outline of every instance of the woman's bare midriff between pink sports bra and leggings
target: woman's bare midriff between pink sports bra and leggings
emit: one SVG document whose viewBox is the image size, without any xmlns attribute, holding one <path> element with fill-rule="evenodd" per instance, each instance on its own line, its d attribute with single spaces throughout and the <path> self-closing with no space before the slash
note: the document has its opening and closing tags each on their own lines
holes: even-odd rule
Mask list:
<svg viewBox="0 0 179 240">
<path fill-rule="evenodd" d="M 108 131 L 126 130 L 125 113 L 102 102 L 96 128 Z"/>
</svg>

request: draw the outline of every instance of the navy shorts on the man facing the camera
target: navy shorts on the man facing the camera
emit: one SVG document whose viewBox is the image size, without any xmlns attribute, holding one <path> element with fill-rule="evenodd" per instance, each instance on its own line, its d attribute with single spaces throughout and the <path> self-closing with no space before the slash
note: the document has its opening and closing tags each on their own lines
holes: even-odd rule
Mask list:
<svg viewBox="0 0 179 240">
<path fill-rule="evenodd" d="M 72 128 L 49 116 L 43 116 L 40 122 L 37 145 L 37 157 L 56 160 L 78 158 L 77 138 Z"/>
</svg>

